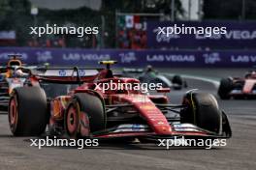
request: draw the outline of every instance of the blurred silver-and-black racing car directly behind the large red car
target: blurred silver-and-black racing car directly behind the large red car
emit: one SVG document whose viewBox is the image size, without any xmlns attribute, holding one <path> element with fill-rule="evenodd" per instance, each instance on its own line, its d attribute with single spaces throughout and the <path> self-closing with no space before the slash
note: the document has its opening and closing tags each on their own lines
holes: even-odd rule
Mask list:
<svg viewBox="0 0 256 170">
<path fill-rule="evenodd" d="M 180 75 L 167 77 L 166 75 L 153 70 L 151 66 L 147 66 L 145 71 L 143 69 L 125 68 L 122 72 L 123 76 L 138 78 L 141 83 L 162 83 L 162 87 L 169 87 L 174 90 L 180 90 L 187 87 L 186 81 L 184 81 Z"/>
</svg>

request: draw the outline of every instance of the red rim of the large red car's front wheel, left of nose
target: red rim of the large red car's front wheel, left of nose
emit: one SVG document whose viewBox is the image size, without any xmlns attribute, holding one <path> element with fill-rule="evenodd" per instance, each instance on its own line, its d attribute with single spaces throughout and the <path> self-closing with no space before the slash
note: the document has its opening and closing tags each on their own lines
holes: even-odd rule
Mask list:
<svg viewBox="0 0 256 170">
<path fill-rule="evenodd" d="M 70 134 L 76 133 L 78 129 L 77 109 L 71 105 L 67 114 L 67 130 Z"/>
</svg>

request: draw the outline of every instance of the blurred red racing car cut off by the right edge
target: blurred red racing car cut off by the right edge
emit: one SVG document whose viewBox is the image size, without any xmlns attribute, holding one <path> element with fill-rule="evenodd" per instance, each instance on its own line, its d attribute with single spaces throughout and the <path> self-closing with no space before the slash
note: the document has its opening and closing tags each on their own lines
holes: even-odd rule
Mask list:
<svg viewBox="0 0 256 170">
<path fill-rule="evenodd" d="M 218 95 L 221 99 L 256 99 L 256 71 L 248 71 L 243 78 L 229 77 L 220 81 Z"/>
</svg>

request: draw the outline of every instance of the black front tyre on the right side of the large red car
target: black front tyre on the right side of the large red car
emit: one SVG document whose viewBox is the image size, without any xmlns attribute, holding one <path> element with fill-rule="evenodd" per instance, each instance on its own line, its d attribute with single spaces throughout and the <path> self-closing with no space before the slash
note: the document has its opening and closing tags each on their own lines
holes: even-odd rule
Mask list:
<svg viewBox="0 0 256 170">
<path fill-rule="evenodd" d="M 222 116 L 216 99 L 210 94 L 188 93 L 183 98 L 185 108 L 180 111 L 180 122 L 193 124 L 214 133 L 221 130 Z"/>
</svg>

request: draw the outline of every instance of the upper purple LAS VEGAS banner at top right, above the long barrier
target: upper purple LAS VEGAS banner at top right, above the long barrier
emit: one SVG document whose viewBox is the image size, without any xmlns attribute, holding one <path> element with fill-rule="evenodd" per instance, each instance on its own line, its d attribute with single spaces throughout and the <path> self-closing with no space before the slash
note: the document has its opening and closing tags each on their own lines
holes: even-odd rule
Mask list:
<svg viewBox="0 0 256 170">
<path fill-rule="evenodd" d="M 157 34 L 158 27 L 226 27 L 226 34 L 206 37 L 195 34 L 178 34 L 167 37 Z M 255 21 L 149 21 L 147 22 L 147 46 L 153 48 L 178 47 L 178 48 L 255 48 L 256 47 L 256 22 Z"/>
</svg>

